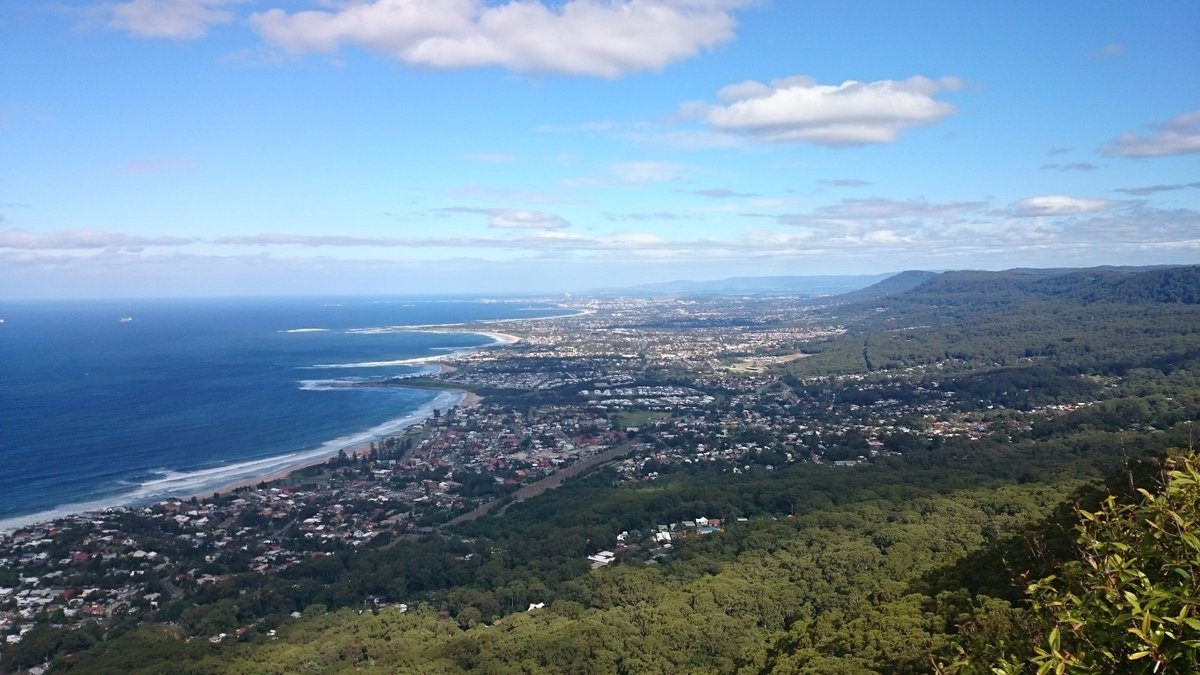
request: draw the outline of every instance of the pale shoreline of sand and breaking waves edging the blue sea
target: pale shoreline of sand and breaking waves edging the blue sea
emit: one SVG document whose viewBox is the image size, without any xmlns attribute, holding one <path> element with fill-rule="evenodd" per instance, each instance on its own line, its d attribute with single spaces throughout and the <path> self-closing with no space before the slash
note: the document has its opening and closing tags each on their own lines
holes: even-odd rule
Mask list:
<svg viewBox="0 0 1200 675">
<path fill-rule="evenodd" d="M 577 316 L 577 315 L 566 315 L 566 316 Z M 518 319 L 505 319 L 505 321 L 540 321 L 541 318 L 562 318 L 562 317 L 559 317 L 559 316 L 552 316 L 552 317 L 538 317 L 538 318 L 528 318 L 528 319 L 526 319 L 526 318 L 518 318 Z M 475 324 L 478 325 L 478 323 L 475 323 Z M 436 369 L 436 371 L 432 375 L 440 375 L 443 372 L 452 372 L 455 370 L 455 368 L 452 365 L 449 365 L 449 364 L 442 363 L 442 362 L 454 360 L 456 357 L 462 357 L 462 356 L 466 356 L 466 354 L 475 353 L 479 350 L 485 350 L 485 348 L 491 348 L 491 347 L 505 347 L 505 346 L 515 345 L 515 344 L 517 344 L 517 342 L 521 341 L 520 336 L 512 335 L 512 334 L 509 334 L 509 333 L 500 333 L 500 331 L 496 331 L 496 330 L 473 330 L 473 329 L 466 328 L 466 325 L 467 324 L 463 324 L 463 328 L 454 329 L 454 328 L 450 328 L 449 325 L 443 324 L 443 327 L 442 327 L 442 328 L 444 328 L 443 330 L 438 330 L 437 327 L 432 327 L 432 325 L 431 327 L 420 327 L 420 328 L 418 328 L 418 327 L 412 327 L 412 328 L 396 327 L 396 328 L 397 328 L 397 331 L 406 331 L 406 333 L 407 331 L 412 331 L 412 333 L 448 333 L 448 334 L 449 333 L 472 333 L 472 334 L 476 334 L 476 335 L 484 335 L 484 336 L 491 339 L 492 344 L 490 344 L 490 345 L 480 345 L 478 347 L 468 347 L 468 348 L 464 348 L 464 350 L 456 350 L 456 351 L 451 351 L 451 352 L 448 352 L 448 353 L 444 353 L 444 354 L 433 354 L 433 356 L 427 356 L 427 357 L 415 357 L 415 358 L 412 358 L 412 359 L 400 359 L 400 360 L 396 360 L 394 363 L 397 364 L 397 365 L 418 365 L 418 364 L 420 364 L 420 365 L 430 365 L 433 369 Z M 450 329 L 445 329 L 445 328 L 450 328 Z M 386 420 L 386 422 L 384 422 L 382 424 L 378 424 L 378 425 L 376 425 L 376 426 L 373 426 L 371 429 L 367 429 L 367 430 L 364 430 L 364 431 L 360 431 L 360 432 L 355 434 L 355 436 L 358 436 L 358 435 L 364 435 L 364 434 L 371 434 L 374 429 L 389 428 L 386 431 L 379 431 L 379 432 L 376 432 L 376 434 L 371 434 L 371 436 L 368 438 L 366 438 L 366 440 L 350 441 L 350 442 L 348 442 L 346 444 L 342 444 L 341 447 L 336 447 L 335 448 L 332 446 L 337 444 L 338 440 L 334 438 L 331 441 L 326 441 L 320 447 L 312 448 L 312 449 L 308 449 L 308 450 L 295 450 L 293 453 L 284 453 L 284 454 L 281 454 L 281 455 L 275 455 L 275 456 L 269 456 L 269 458 L 260 458 L 260 459 L 254 459 L 254 460 L 247 460 L 245 462 L 239 462 L 239 464 L 244 464 L 244 465 L 271 464 L 272 461 L 274 462 L 283 462 L 282 466 L 272 466 L 271 470 L 266 471 L 265 473 L 254 473 L 253 476 L 246 476 L 246 477 L 242 477 L 242 478 L 238 478 L 238 479 L 234 479 L 234 480 L 226 480 L 226 482 L 222 482 L 222 483 L 214 482 L 214 486 L 212 488 L 204 488 L 203 491 L 194 491 L 194 490 L 193 491 L 182 491 L 181 490 L 179 494 L 170 494 L 170 489 L 167 488 L 161 494 L 154 494 L 154 495 L 148 494 L 145 496 L 139 496 L 138 492 L 134 491 L 132 495 L 128 495 L 128 494 L 126 494 L 126 495 L 113 495 L 110 497 L 101 497 L 101 498 L 96 498 L 96 500 L 91 500 L 91 501 L 86 501 L 86 502 L 67 503 L 67 504 L 62 504 L 60 507 L 54 507 L 54 508 L 50 508 L 50 509 L 36 512 L 36 513 L 12 515 L 12 516 L 8 516 L 8 518 L 0 519 L 0 534 L 2 534 L 2 533 L 11 534 L 13 532 L 18 532 L 18 531 L 22 531 L 22 530 L 25 530 L 25 528 L 30 528 L 30 527 L 49 526 L 49 525 L 53 525 L 53 524 L 59 522 L 59 521 L 76 519 L 76 518 L 86 518 L 89 514 L 103 513 L 103 512 L 106 512 L 108 509 L 132 509 L 132 508 L 140 508 L 140 507 L 144 507 L 144 506 L 149 506 L 149 504 L 154 504 L 154 503 L 160 503 L 160 502 L 164 502 L 164 501 L 170 501 L 170 500 L 190 501 L 193 497 L 197 498 L 198 501 L 203 502 L 203 501 L 206 501 L 206 500 L 211 500 L 214 497 L 214 495 L 226 495 L 226 494 L 229 494 L 229 492 L 233 492 L 235 490 L 244 489 L 244 488 L 251 488 L 252 489 L 252 488 L 258 486 L 262 483 L 272 483 L 272 482 L 276 482 L 276 480 L 281 480 L 281 479 L 287 478 L 288 476 L 295 473 L 296 471 L 300 471 L 300 470 L 304 470 L 304 468 L 307 468 L 307 467 L 311 467 L 311 466 L 324 464 L 324 462 L 329 461 L 330 458 L 336 456 L 340 450 L 344 450 L 347 454 L 358 454 L 358 453 L 362 453 L 362 452 L 370 452 L 371 443 L 373 441 L 376 441 L 378 438 L 384 438 L 384 437 L 388 437 L 388 436 L 395 436 L 395 435 L 398 435 L 398 434 L 403 434 L 404 431 L 407 431 L 412 426 L 414 426 L 416 424 L 420 424 L 420 423 L 425 422 L 426 419 L 431 418 L 433 416 L 433 410 L 434 408 L 444 411 L 444 410 L 450 410 L 452 407 L 474 407 L 474 406 L 479 405 L 482 401 L 482 396 L 480 396 L 479 394 L 476 394 L 474 392 L 470 392 L 468 389 L 462 389 L 462 388 L 431 389 L 431 388 L 424 388 L 424 387 L 410 387 L 410 389 L 421 389 L 421 390 L 426 390 L 426 392 L 438 392 L 439 393 L 438 396 L 440 396 L 443 394 L 451 394 L 451 395 L 456 396 L 457 400 L 454 401 L 454 402 L 450 402 L 448 405 L 431 405 L 431 404 L 436 404 L 437 400 L 438 400 L 438 396 L 434 396 L 434 399 L 432 401 L 430 401 L 430 404 L 426 404 L 426 405 L 430 405 L 430 408 L 427 411 L 421 412 L 421 408 L 418 408 L 416 411 L 413 411 L 409 414 L 414 414 L 414 413 L 418 413 L 418 412 L 420 412 L 420 414 L 415 419 L 412 419 L 412 420 L 408 420 L 406 423 L 402 423 L 396 429 L 390 429 L 390 426 L 400 423 L 401 420 L 404 420 L 406 417 L 408 417 L 408 416 L 400 417 L 400 418 L 391 419 L 391 420 Z M 330 447 L 329 448 L 324 448 L 324 446 L 326 446 L 326 444 L 329 444 Z M 314 453 L 314 454 L 310 454 L 310 453 Z M 287 462 L 287 460 L 284 458 L 287 458 L 287 456 L 289 456 L 292 454 L 301 454 L 301 455 L 306 455 L 306 456 L 298 458 L 295 461 L 292 461 L 292 462 Z M 234 466 L 238 466 L 238 465 L 234 465 Z M 196 474 L 196 473 L 200 473 L 202 474 L 205 471 L 215 471 L 215 470 L 220 470 L 220 468 L 222 468 L 222 467 L 214 467 L 214 468 L 209 468 L 209 470 L 196 470 L 196 471 L 190 472 L 190 473 L 191 474 Z M 226 468 L 228 468 L 228 467 L 226 467 Z M 252 471 L 252 468 L 247 468 L 247 471 Z M 160 480 L 169 480 L 169 479 L 170 478 L 168 477 L 168 478 L 163 478 L 163 479 L 160 479 Z M 148 485 L 152 485 L 154 483 L 156 483 L 156 482 L 151 480 L 151 482 L 144 483 L 140 488 L 145 489 L 145 488 L 148 488 Z"/>
</svg>

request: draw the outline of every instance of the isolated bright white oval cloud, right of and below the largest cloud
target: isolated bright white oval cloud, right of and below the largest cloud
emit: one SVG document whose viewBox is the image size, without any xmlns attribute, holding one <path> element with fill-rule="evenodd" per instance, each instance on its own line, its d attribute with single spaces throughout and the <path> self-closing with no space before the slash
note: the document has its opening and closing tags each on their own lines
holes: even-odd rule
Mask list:
<svg viewBox="0 0 1200 675">
<path fill-rule="evenodd" d="M 718 92 L 724 104 L 685 103 L 685 115 L 698 115 L 713 129 L 770 143 L 864 145 L 892 143 L 901 131 L 941 121 L 954 106 L 934 98 L 962 86 L 958 78 L 847 80 L 817 84 L 793 77 L 743 82 Z"/>
</svg>

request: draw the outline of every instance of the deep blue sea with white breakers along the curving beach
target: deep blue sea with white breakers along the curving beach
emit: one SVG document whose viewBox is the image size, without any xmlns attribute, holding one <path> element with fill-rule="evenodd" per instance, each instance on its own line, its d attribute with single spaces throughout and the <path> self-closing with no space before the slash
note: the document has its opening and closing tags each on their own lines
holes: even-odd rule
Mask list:
<svg viewBox="0 0 1200 675">
<path fill-rule="evenodd" d="M 492 341 L 395 327 L 562 313 L 419 299 L 0 303 L 0 530 L 204 494 L 396 430 L 457 398 L 331 381 L 419 374 L 428 366 L 395 362 Z"/>
</svg>

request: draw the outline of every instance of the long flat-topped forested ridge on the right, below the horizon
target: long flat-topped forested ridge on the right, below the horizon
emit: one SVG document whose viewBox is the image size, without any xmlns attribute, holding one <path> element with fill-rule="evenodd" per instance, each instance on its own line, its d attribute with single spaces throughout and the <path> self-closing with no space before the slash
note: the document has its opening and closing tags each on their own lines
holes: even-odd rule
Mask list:
<svg viewBox="0 0 1200 675">
<path fill-rule="evenodd" d="M 798 374 L 1018 368 L 1037 370 L 1042 384 L 1007 383 L 1013 390 L 1061 392 L 1080 374 L 1200 358 L 1200 265 L 905 273 L 820 305 L 817 321 L 847 333 L 810 345 Z M 1038 370 L 1048 364 L 1052 386 Z"/>
</svg>

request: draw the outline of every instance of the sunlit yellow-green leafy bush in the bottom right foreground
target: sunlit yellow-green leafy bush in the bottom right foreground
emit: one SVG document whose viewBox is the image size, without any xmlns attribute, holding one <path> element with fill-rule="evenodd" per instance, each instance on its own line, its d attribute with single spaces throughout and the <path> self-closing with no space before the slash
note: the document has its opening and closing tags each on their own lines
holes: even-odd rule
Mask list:
<svg viewBox="0 0 1200 675">
<path fill-rule="evenodd" d="M 1079 560 L 1030 585 L 1050 626 L 1037 673 L 1200 671 L 1200 458 L 1169 459 L 1139 494 L 1080 509 Z"/>
</svg>

